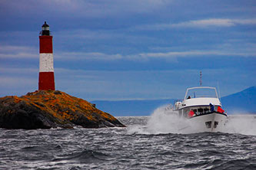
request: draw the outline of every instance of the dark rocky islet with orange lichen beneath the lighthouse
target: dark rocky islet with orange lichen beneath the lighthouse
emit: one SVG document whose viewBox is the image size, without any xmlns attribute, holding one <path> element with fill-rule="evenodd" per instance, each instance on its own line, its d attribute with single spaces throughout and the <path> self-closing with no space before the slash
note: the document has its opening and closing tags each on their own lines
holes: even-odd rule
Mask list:
<svg viewBox="0 0 256 170">
<path fill-rule="evenodd" d="M 62 91 L 37 90 L 0 98 L 0 128 L 50 129 L 124 127 L 118 119 Z"/>
</svg>

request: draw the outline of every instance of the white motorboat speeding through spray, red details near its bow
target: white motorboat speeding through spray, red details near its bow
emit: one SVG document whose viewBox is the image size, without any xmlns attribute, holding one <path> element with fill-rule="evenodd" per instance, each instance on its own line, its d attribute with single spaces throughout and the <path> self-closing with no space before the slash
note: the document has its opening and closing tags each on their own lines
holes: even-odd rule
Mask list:
<svg viewBox="0 0 256 170">
<path fill-rule="evenodd" d="M 195 132 L 224 132 L 228 115 L 222 109 L 215 87 L 191 87 L 184 100 L 175 101 L 173 110 L 178 116 L 188 119 Z"/>
</svg>

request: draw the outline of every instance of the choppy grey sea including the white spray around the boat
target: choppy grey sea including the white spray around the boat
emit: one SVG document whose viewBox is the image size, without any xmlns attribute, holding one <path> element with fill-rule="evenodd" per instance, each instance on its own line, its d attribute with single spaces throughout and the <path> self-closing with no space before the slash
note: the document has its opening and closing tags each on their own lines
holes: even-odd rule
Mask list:
<svg viewBox="0 0 256 170">
<path fill-rule="evenodd" d="M 0 169 L 256 169 L 256 115 L 227 132 L 179 132 L 177 119 L 118 117 L 126 128 L 0 129 Z"/>
</svg>

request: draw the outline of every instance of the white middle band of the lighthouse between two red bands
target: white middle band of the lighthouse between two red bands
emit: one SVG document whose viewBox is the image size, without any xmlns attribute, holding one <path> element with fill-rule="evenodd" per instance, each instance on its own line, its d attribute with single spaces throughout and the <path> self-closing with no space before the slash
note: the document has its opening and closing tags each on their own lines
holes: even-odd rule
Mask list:
<svg viewBox="0 0 256 170">
<path fill-rule="evenodd" d="M 40 53 L 39 72 L 54 72 L 52 53 Z"/>
</svg>

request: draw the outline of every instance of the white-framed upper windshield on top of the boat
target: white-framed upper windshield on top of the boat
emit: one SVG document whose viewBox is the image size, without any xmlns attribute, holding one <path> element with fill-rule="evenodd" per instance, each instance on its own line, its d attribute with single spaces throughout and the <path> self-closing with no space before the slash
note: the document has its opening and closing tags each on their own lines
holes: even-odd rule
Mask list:
<svg viewBox="0 0 256 170">
<path fill-rule="evenodd" d="M 218 98 L 217 91 L 214 87 L 193 87 L 188 88 L 185 99 L 197 97 L 213 97 Z"/>
</svg>

